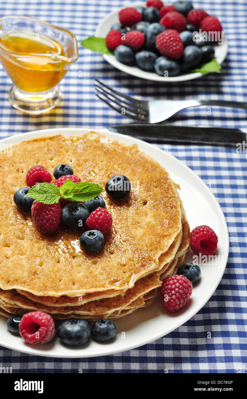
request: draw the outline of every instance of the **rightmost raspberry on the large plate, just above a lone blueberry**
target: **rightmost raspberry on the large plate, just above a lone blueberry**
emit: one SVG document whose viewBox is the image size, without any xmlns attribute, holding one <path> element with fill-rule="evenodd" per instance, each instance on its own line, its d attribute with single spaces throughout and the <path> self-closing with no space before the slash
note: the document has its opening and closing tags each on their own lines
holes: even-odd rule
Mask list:
<svg viewBox="0 0 247 399">
<path fill-rule="evenodd" d="M 197 226 L 191 231 L 190 247 L 196 255 L 214 255 L 217 249 L 218 237 L 211 227 Z"/>
</svg>

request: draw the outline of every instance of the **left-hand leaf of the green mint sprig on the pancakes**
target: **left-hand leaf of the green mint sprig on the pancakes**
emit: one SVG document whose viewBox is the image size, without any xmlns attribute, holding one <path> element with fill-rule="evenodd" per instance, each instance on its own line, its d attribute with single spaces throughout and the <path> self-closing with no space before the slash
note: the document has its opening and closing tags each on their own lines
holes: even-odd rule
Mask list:
<svg viewBox="0 0 247 399">
<path fill-rule="evenodd" d="M 60 192 L 56 184 L 38 183 L 29 189 L 27 197 L 51 205 L 59 202 Z"/>
</svg>

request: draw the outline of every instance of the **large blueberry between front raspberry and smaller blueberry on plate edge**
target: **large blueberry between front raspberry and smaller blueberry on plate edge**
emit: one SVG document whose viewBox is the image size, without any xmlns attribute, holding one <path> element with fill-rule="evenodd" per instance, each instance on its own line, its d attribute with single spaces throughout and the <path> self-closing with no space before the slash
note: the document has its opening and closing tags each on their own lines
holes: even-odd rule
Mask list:
<svg viewBox="0 0 247 399">
<path fill-rule="evenodd" d="M 86 320 L 64 320 L 58 326 L 58 337 L 64 344 L 79 346 L 86 344 L 90 337 L 90 327 Z"/>
</svg>

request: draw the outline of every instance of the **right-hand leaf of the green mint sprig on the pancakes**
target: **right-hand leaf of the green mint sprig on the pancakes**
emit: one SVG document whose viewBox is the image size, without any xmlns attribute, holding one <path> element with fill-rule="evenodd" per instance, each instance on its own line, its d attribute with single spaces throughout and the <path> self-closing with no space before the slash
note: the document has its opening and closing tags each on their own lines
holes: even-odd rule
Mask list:
<svg viewBox="0 0 247 399">
<path fill-rule="evenodd" d="M 88 201 L 98 196 L 103 191 L 103 188 L 95 183 L 73 183 L 71 180 L 66 180 L 59 191 L 61 197 L 67 201 Z"/>
</svg>

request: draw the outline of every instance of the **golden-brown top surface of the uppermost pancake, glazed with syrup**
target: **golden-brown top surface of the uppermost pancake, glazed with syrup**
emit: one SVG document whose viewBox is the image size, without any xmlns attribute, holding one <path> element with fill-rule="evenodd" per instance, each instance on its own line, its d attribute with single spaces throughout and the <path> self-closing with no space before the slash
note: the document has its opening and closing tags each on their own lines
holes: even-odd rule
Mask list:
<svg viewBox="0 0 247 399">
<path fill-rule="evenodd" d="M 103 192 L 113 229 L 106 233 L 100 253 L 79 251 L 72 245 L 78 240 L 73 232 L 41 235 L 31 217 L 13 203 L 14 192 L 25 186 L 25 173 L 31 166 L 41 163 L 52 172 L 65 160 L 82 181 L 101 187 L 114 174 L 138 182 L 138 189 L 133 188 L 126 200 L 113 201 Z M 158 267 L 159 256 L 181 231 L 180 198 L 173 182 L 137 146 L 93 132 L 37 138 L 14 146 L 12 157 L 1 154 L 0 165 L 0 286 L 4 290 L 76 296 L 130 288 Z"/>
</svg>

